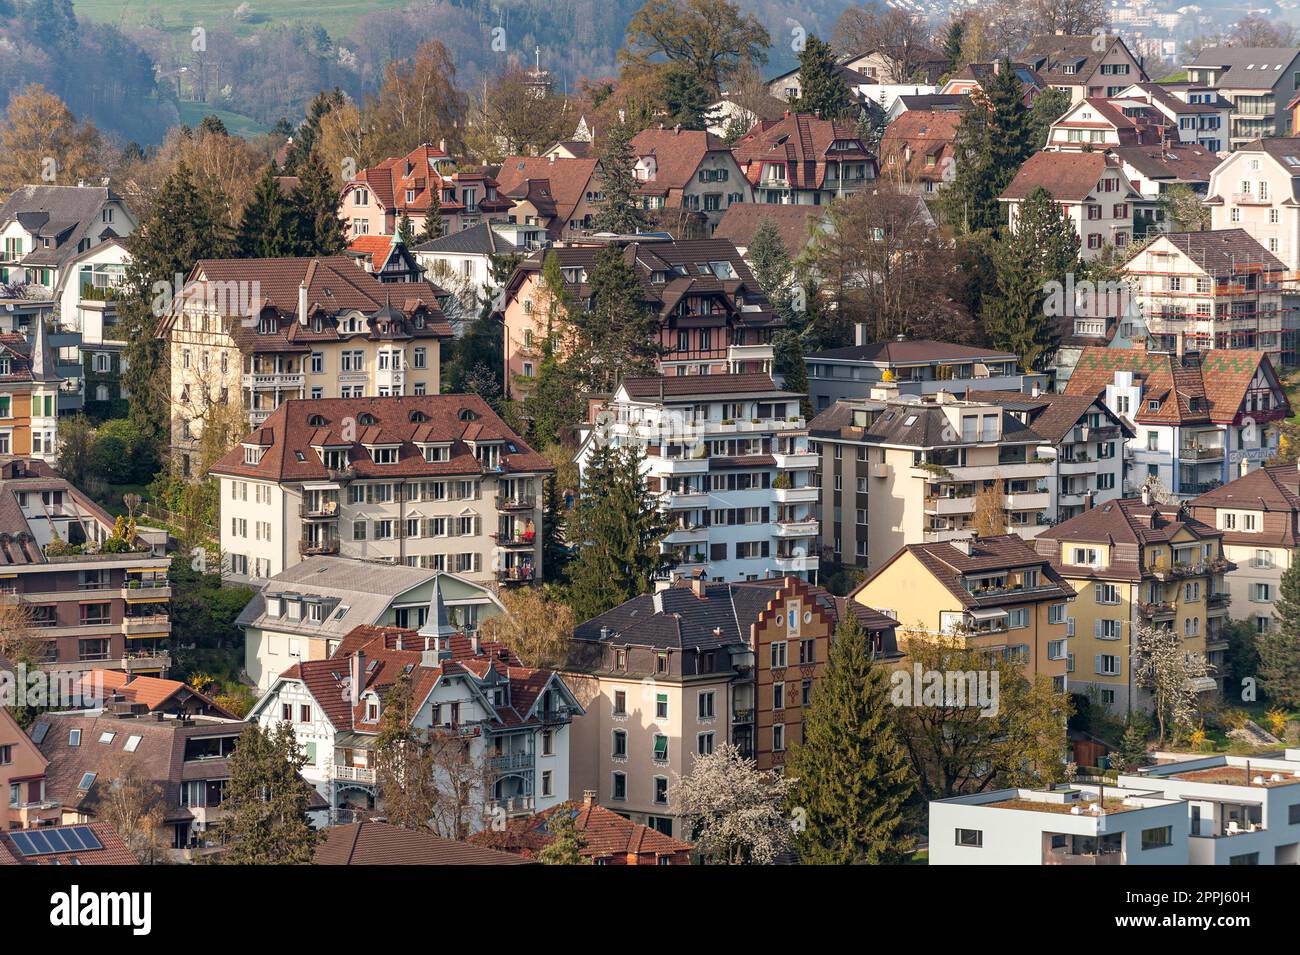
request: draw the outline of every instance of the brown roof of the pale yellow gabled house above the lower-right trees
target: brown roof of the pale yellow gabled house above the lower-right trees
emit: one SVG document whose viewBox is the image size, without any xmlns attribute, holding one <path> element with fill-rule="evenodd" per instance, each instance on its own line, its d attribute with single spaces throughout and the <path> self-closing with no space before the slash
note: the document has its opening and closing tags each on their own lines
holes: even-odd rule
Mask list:
<svg viewBox="0 0 1300 955">
<path fill-rule="evenodd" d="M 928 544 L 907 544 L 880 569 L 859 583 L 850 598 L 863 590 L 872 579 L 884 573 L 885 568 L 893 564 L 904 554 L 911 554 L 920 561 L 936 581 L 944 585 L 949 594 L 961 600 L 966 609 L 980 607 L 1002 607 L 1022 603 L 1039 603 L 1041 600 L 1069 600 L 1075 595 L 1074 587 L 1066 583 L 1052 568 L 1048 559 L 1034 550 L 1024 538 L 1018 534 L 1001 534 L 998 537 L 972 537 L 963 544 L 970 548 L 967 554 L 962 546 L 952 541 L 941 541 Z M 970 592 L 962 586 L 962 577 L 967 574 L 996 573 L 1000 570 L 1036 569 L 1043 576 L 1041 586 L 1035 590 L 1022 592 L 1005 591 L 980 596 Z"/>
</svg>

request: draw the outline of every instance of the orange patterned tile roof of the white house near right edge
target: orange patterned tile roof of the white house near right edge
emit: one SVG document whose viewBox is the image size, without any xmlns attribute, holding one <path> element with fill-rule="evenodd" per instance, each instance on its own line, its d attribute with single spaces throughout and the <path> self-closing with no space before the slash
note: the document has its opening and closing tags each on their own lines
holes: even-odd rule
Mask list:
<svg viewBox="0 0 1300 955">
<path fill-rule="evenodd" d="M 1245 392 L 1256 372 L 1264 368 L 1274 382 L 1277 376 L 1269 356 L 1257 351 L 1212 350 L 1200 363 L 1179 363 L 1166 352 L 1141 348 L 1084 348 L 1066 385 L 1067 395 L 1100 395 L 1114 383 L 1115 372 L 1132 372 L 1143 382 L 1141 408 L 1134 414 L 1138 424 L 1232 422 L 1244 411 Z M 1260 418 L 1290 414 L 1290 404 L 1280 386 L 1279 404 L 1271 412 L 1257 412 Z M 1170 398 L 1175 400 L 1170 400 Z M 1148 411 L 1147 400 L 1160 400 L 1157 411 Z M 1192 411 L 1197 399 L 1201 411 Z"/>
</svg>

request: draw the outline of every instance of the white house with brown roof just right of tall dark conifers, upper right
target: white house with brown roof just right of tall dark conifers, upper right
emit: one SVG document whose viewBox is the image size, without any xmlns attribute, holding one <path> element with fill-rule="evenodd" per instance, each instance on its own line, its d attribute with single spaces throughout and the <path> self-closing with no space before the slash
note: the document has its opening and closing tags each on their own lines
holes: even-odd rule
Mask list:
<svg viewBox="0 0 1300 955">
<path fill-rule="evenodd" d="M 1096 259 L 1108 246 L 1126 248 L 1134 238 L 1135 217 L 1149 205 L 1119 161 L 1105 152 L 1036 152 L 1000 196 L 1013 230 L 1019 223 L 1020 204 L 1036 188 L 1046 190 L 1074 226 L 1084 261 Z"/>
</svg>

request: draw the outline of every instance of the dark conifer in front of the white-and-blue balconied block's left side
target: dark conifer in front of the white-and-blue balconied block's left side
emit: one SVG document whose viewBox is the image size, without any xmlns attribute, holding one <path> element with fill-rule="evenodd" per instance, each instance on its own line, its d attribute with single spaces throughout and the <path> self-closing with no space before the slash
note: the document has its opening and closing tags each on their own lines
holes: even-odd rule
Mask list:
<svg viewBox="0 0 1300 955">
<path fill-rule="evenodd" d="M 578 620 L 590 620 L 638 594 L 672 567 L 659 543 L 671 524 L 641 473 L 638 447 L 598 444 L 582 474 L 571 517 L 571 539 L 578 544 L 569 564 L 567 603 Z"/>
</svg>

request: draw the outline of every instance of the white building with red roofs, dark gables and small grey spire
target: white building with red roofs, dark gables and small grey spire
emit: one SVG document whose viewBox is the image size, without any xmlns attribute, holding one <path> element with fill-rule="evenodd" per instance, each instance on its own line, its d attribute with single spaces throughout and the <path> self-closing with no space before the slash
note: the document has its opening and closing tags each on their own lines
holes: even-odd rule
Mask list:
<svg viewBox="0 0 1300 955">
<path fill-rule="evenodd" d="M 410 729 L 462 741 L 474 776 L 481 768 L 482 781 L 468 783 L 464 804 L 447 807 L 462 825 L 477 832 L 494 813 L 532 815 L 569 798 L 569 724 L 582 707 L 558 673 L 524 667 L 499 643 L 456 630 L 437 585 L 420 630 L 355 628 L 328 660 L 281 673 L 248 721 L 292 728 L 307 755 L 303 778 L 332 816 L 382 812 L 377 739 L 385 696 L 403 673 L 411 681 Z M 436 774 L 446 772 L 434 767 Z"/>
</svg>

